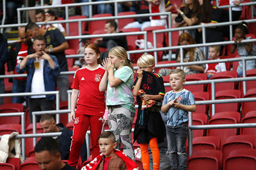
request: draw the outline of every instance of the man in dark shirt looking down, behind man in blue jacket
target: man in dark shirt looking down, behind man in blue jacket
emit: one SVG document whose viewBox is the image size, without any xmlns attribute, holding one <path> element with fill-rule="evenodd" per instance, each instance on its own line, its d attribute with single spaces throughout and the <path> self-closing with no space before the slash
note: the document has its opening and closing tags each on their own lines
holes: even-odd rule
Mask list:
<svg viewBox="0 0 256 170">
<path fill-rule="evenodd" d="M 37 24 L 30 22 L 26 25 L 26 32 L 30 38 L 35 36 L 44 36 L 46 49 L 45 52 L 55 55 L 58 59 L 60 71 L 68 71 L 67 59 L 65 56 L 65 50 L 68 49 L 68 43 L 60 30 L 52 27 L 50 29 L 42 29 Z M 68 90 L 68 76 L 60 75 L 56 78 L 58 89 L 60 90 L 61 101 L 67 101 Z"/>
</svg>

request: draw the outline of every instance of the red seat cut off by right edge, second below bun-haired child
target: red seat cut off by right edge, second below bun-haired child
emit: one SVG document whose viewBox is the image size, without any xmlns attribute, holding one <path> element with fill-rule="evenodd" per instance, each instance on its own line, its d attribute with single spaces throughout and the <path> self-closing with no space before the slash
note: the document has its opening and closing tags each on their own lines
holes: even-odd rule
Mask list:
<svg viewBox="0 0 256 170">
<path fill-rule="evenodd" d="M 255 87 L 256 88 L 256 87 Z M 256 89 L 250 89 L 246 92 L 246 94 L 243 96 L 243 98 L 247 97 L 256 97 Z M 256 102 L 244 102 L 241 105 L 241 111 L 243 114 L 243 117 L 248 113 L 249 111 L 256 110 Z"/>
</svg>

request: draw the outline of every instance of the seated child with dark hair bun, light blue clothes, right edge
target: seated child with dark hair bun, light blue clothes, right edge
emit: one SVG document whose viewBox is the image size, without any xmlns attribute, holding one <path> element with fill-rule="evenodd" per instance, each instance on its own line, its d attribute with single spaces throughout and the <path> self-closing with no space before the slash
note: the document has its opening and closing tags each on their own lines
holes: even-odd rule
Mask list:
<svg viewBox="0 0 256 170">
<path fill-rule="evenodd" d="M 248 34 L 248 25 L 246 22 L 241 22 L 236 27 L 234 44 L 231 45 L 230 53 L 237 52 L 240 57 L 252 57 L 255 56 L 255 45 L 254 43 L 242 43 L 243 39 L 252 39 L 251 36 L 246 38 Z M 255 69 L 255 60 L 246 60 L 246 70 Z M 243 75 L 243 61 L 239 61 L 239 66 L 236 70 L 238 77 Z"/>
</svg>

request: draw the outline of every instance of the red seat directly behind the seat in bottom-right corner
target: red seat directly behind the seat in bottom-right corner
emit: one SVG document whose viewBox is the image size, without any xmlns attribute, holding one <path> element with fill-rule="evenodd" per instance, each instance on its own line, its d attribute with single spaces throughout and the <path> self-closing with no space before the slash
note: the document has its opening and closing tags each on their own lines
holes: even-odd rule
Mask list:
<svg viewBox="0 0 256 170">
<path fill-rule="evenodd" d="M 228 157 L 228 154 L 232 152 L 232 150 L 236 150 L 237 148 L 252 148 L 253 149 L 254 138 L 250 135 L 235 135 L 229 136 L 224 139 L 223 144 L 221 146 L 221 150 L 223 153 L 223 161 Z"/>
</svg>

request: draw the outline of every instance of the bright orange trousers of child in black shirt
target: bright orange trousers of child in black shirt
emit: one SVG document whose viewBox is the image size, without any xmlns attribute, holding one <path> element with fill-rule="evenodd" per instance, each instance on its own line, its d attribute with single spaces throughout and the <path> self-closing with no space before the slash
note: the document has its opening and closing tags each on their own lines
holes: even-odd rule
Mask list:
<svg viewBox="0 0 256 170">
<path fill-rule="evenodd" d="M 160 152 L 158 148 L 157 138 L 152 138 L 149 141 L 149 146 L 153 157 L 153 169 L 159 169 L 160 166 Z M 143 163 L 143 169 L 150 169 L 148 143 L 140 144 L 141 160 Z"/>
</svg>

